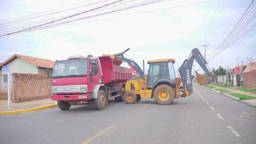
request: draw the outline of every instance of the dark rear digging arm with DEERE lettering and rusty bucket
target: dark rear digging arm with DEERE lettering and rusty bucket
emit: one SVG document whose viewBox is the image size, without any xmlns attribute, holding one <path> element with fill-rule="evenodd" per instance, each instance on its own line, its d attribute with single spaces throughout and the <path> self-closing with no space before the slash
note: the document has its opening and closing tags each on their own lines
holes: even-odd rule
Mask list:
<svg viewBox="0 0 256 144">
<path fill-rule="evenodd" d="M 193 92 L 191 71 L 194 60 L 197 61 L 207 76 L 209 76 L 209 78 L 206 78 L 196 72 L 196 77 L 199 84 L 206 85 L 209 82 L 215 81 L 216 79 L 210 68 L 207 66 L 206 60 L 204 59 L 201 52 L 197 48 L 192 49 L 188 59 L 184 60 L 179 68 L 180 78 L 184 89 L 184 96 L 190 96 Z"/>
</svg>

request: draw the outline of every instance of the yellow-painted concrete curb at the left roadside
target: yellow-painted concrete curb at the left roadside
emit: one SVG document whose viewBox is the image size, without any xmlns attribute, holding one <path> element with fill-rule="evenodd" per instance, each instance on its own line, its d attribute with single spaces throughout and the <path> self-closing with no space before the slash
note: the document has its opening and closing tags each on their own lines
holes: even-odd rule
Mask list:
<svg viewBox="0 0 256 144">
<path fill-rule="evenodd" d="M 46 108 L 56 108 L 56 107 L 58 107 L 57 103 L 50 104 L 50 105 L 44 105 L 44 106 L 36 107 L 36 108 L 11 110 L 11 111 L 0 111 L 0 115 L 22 114 L 22 113 L 27 113 L 27 112 L 31 112 L 31 111 L 42 110 L 42 109 L 46 109 Z"/>
</svg>

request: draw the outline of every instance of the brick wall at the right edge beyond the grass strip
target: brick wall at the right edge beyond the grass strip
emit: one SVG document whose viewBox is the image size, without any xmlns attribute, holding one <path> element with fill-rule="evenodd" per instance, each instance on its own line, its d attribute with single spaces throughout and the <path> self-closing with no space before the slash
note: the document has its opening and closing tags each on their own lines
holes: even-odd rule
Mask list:
<svg viewBox="0 0 256 144">
<path fill-rule="evenodd" d="M 244 75 L 244 87 L 256 86 L 256 70 L 243 73 Z"/>
</svg>

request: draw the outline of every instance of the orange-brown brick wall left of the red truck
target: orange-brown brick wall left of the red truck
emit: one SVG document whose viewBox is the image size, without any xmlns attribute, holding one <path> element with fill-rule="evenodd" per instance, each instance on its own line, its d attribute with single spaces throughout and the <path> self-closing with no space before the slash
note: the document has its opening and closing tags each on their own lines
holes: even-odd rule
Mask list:
<svg viewBox="0 0 256 144">
<path fill-rule="evenodd" d="M 51 78 L 42 74 L 12 74 L 12 102 L 51 97 Z"/>
</svg>

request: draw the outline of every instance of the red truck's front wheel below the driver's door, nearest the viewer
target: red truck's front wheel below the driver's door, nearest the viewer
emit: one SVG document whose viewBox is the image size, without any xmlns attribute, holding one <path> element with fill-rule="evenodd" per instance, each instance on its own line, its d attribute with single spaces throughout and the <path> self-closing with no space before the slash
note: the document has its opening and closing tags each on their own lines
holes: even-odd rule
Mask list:
<svg viewBox="0 0 256 144">
<path fill-rule="evenodd" d="M 99 90 L 98 98 L 93 99 L 94 107 L 97 110 L 102 110 L 106 107 L 106 103 L 107 103 L 106 93 L 103 90 Z"/>
</svg>

